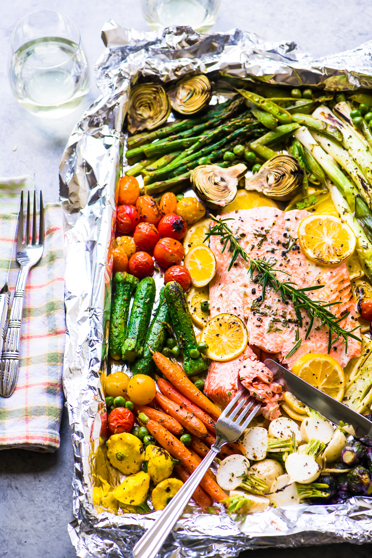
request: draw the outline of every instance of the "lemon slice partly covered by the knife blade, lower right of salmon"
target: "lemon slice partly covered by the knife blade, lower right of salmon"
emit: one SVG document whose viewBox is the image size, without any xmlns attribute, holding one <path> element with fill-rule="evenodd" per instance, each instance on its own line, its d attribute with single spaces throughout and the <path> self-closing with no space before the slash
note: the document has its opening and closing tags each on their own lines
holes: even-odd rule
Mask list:
<svg viewBox="0 0 372 558">
<path fill-rule="evenodd" d="M 342 401 L 345 391 L 345 374 L 337 360 L 330 355 L 304 354 L 294 364 L 292 372 L 323 393 L 337 401 Z"/>
</svg>

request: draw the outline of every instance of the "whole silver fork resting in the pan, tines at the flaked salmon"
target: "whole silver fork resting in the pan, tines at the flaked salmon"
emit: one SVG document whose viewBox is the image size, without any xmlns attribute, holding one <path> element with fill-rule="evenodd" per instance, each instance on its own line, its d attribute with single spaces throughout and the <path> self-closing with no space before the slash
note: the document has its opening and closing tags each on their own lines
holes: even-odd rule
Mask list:
<svg viewBox="0 0 372 558">
<path fill-rule="evenodd" d="M 249 395 L 244 396 L 244 392 L 245 390 L 241 389 L 233 400 L 230 401 L 223 413 L 221 413 L 215 426 L 215 444 L 211 446 L 211 449 L 200 465 L 197 466 L 194 473 L 190 475 L 177 494 L 173 496 L 160 517 L 154 521 L 152 527 L 144 533 L 134 546 L 132 551 L 133 558 L 154 558 L 157 555 L 173 525 L 175 525 L 187 502 L 189 502 L 192 493 L 209 469 L 215 456 L 220 453 L 221 447 L 226 442 L 238 440 L 249 422 L 257 415 L 261 404 Z"/>
</svg>

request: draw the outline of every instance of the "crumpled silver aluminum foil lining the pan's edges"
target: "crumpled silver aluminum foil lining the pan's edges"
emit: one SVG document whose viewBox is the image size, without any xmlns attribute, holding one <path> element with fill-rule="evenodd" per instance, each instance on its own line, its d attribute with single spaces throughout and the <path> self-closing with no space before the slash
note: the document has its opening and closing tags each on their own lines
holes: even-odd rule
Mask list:
<svg viewBox="0 0 372 558">
<path fill-rule="evenodd" d="M 75 520 L 69 533 L 80 558 L 131 556 L 134 543 L 159 513 L 118 515 L 108 511 L 109 504 L 97 505 L 102 504 L 103 487 L 120 482 L 100 445 L 100 377 L 107 367 L 109 246 L 131 85 L 142 77 L 168 83 L 181 75 L 208 72 L 215 100 L 230 97 L 234 86 L 247 80 L 328 90 L 372 87 L 372 41 L 313 61 L 294 42 L 272 43 L 239 30 L 200 35 L 189 27 L 172 27 L 140 33 L 109 21 L 102 38 L 107 49 L 95 68 L 102 95 L 76 124 L 60 163 L 66 254 L 64 389 L 75 455 Z M 372 541 L 371 498 L 351 498 L 337 506 L 270 508 L 240 524 L 215 507 L 215 515 L 187 507 L 161 556 L 236 556 L 268 546 Z"/>
</svg>

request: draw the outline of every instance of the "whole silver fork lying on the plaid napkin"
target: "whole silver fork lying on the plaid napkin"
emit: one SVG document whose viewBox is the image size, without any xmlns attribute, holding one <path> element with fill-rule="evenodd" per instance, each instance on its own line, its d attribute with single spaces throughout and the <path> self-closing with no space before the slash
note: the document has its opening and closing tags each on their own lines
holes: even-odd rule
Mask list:
<svg viewBox="0 0 372 558">
<path fill-rule="evenodd" d="M 44 205 L 40 192 L 40 218 L 38 244 L 36 244 L 36 191 L 33 193 L 32 240 L 30 244 L 30 192 L 27 198 L 26 237 L 23 242 L 23 191 L 21 193 L 20 213 L 18 214 L 17 262 L 21 269 L 18 273 L 15 294 L 13 297 L 7 335 L 4 342 L 0 363 L 0 395 L 9 397 L 17 384 L 18 364 L 20 361 L 21 320 L 23 297 L 28 272 L 40 261 L 44 250 Z"/>
</svg>

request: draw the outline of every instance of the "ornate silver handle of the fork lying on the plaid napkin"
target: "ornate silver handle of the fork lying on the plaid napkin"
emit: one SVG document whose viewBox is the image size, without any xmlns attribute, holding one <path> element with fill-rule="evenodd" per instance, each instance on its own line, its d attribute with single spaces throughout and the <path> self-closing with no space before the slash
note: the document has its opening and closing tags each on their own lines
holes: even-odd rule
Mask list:
<svg viewBox="0 0 372 558">
<path fill-rule="evenodd" d="M 0 395 L 3 397 L 11 396 L 17 384 L 23 297 L 25 296 L 29 271 L 30 266 L 21 266 L 17 277 L 16 290 L 0 363 Z"/>
</svg>

